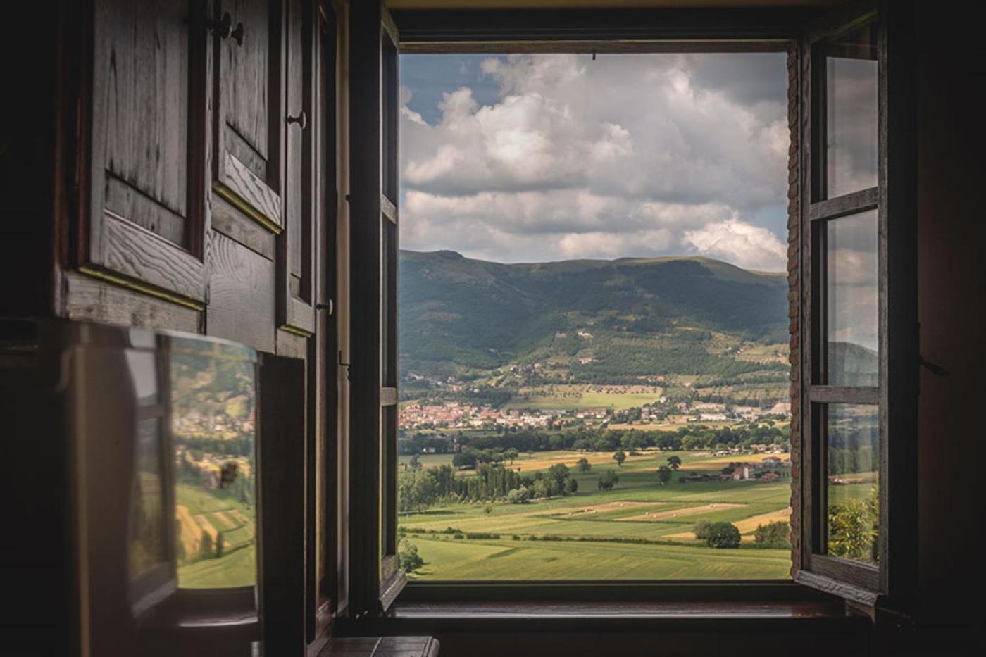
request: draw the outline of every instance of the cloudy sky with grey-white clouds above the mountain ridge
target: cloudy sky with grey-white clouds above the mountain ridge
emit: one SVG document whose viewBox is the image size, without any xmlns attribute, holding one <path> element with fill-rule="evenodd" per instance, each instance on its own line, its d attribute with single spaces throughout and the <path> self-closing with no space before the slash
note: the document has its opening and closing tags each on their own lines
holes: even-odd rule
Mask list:
<svg viewBox="0 0 986 657">
<path fill-rule="evenodd" d="M 785 56 L 401 55 L 401 248 L 783 270 Z"/>
</svg>

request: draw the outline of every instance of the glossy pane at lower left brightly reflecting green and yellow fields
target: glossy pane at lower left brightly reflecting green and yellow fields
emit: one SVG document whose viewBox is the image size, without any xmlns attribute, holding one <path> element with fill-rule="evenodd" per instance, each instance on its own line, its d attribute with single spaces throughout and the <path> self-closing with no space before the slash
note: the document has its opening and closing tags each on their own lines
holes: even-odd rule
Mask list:
<svg viewBox="0 0 986 657">
<path fill-rule="evenodd" d="M 255 368 L 237 348 L 175 340 L 178 586 L 256 582 Z"/>
</svg>

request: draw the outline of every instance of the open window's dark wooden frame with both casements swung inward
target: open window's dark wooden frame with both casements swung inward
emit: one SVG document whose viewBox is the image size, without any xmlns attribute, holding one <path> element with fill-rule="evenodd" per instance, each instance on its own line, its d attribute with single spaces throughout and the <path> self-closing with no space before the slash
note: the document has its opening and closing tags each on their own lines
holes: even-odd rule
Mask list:
<svg viewBox="0 0 986 657">
<path fill-rule="evenodd" d="M 630 14 L 607 14 L 606 30 L 593 24 L 591 12 L 567 14 L 564 25 L 550 12 L 538 14 L 523 28 L 516 16 L 503 19 L 495 12 L 405 12 L 398 14 L 403 41 L 386 8 L 377 3 L 353 8 L 349 549 L 354 616 L 386 610 L 405 581 L 396 567 L 394 485 L 398 43 L 402 51 L 409 46 L 419 52 L 464 48 L 593 54 L 612 47 L 610 39 L 630 36 L 647 43 L 641 48 L 659 52 L 790 48 L 797 64 L 791 84 L 800 90 L 800 96 L 789 97 L 799 140 L 789 164 L 797 172 L 789 190 L 795 201 L 791 212 L 797 215 L 790 227 L 797 237 L 789 244 L 798 249 L 788 252 L 796 258 L 789 259 L 788 272 L 797 300 L 792 340 L 796 385 L 790 398 L 795 580 L 870 608 L 889 606 L 886 596 L 907 594 L 913 579 L 909 532 L 914 526 L 914 493 L 908 490 L 914 471 L 913 418 L 908 418 L 915 407 L 917 361 L 914 205 L 908 196 L 913 194 L 913 158 L 900 140 L 912 134 L 913 117 L 908 113 L 905 55 L 894 60 L 894 67 L 887 64 L 891 52 L 908 51 L 908 17 L 903 11 L 894 14 L 887 5 L 853 4 L 810 26 L 805 14 L 795 13 L 750 14 L 743 20 L 686 13 L 664 14 L 659 20 L 660 13 L 651 13 L 634 15 L 642 17 L 636 23 Z M 729 39 L 740 45 L 726 45 Z M 551 42 L 559 40 L 565 42 Z M 623 41 L 620 47 L 631 46 Z M 585 333 L 576 334 L 592 337 L 591 331 Z M 746 478 L 752 469 L 739 465 L 739 478 Z M 464 540 L 461 534 L 453 540 Z M 514 588 L 506 594 L 499 587 L 500 594 L 527 595 L 532 582 L 526 574 L 517 572 L 507 582 Z M 476 582 L 466 584 L 468 591 L 462 585 L 442 593 L 436 593 L 441 587 L 411 588 L 419 592 L 415 597 L 473 600 L 492 591 L 476 587 Z M 574 584 L 547 595 L 564 598 L 592 591 L 596 596 L 605 595 L 600 593 L 604 588 L 618 588 L 599 580 Z M 654 581 L 634 582 L 638 588 L 630 595 L 644 589 L 668 595 L 670 587 L 699 590 L 694 579 L 664 582 L 663 589 L 641 589 L 642 584 Z M 750 597 L 773 595 L 764 593 L 770 587 L 762 581 L 733 584 L 758 591 Z M 782 595 L 798 588 L 787 586 L 791 588 Z M 709 595 L 710 590 L 705 587 L 696 595 Z"/>
</svg>

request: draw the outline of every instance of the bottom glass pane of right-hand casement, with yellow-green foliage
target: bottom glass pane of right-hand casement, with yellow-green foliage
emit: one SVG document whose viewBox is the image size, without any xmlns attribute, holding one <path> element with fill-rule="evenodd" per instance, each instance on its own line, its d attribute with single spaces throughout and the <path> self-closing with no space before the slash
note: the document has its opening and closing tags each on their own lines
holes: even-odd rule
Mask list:
<svg viewBox="0 0 986 657">
<path fill-rule="evenodd" d="M 828 553 L 877 563 L 880 527 L 880 407 L 827 408 Z"/>
</svg>

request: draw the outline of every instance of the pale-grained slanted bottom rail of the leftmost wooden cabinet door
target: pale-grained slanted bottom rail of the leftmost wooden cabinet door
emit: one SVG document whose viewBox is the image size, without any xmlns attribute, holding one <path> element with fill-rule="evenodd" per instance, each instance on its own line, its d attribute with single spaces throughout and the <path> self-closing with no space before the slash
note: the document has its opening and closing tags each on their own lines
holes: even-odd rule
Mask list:
<svg viewBox="0 0 986 657">
<path fill-rule="evenodd" d="M 97 264 L 168 292 L 203 301 L 201 260 L 136 224 L 103 215 L 103 257 Z"/>
</svg>

